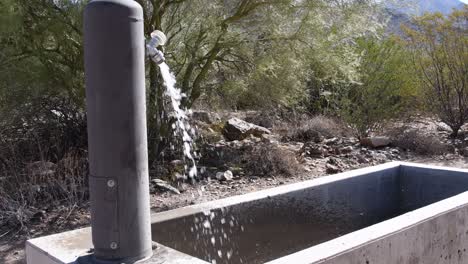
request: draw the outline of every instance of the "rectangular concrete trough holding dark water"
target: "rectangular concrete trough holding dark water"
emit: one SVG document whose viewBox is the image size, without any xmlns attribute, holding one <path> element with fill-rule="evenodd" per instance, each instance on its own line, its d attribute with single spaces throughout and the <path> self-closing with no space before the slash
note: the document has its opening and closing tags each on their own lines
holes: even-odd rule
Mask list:
<svg viewBox="0 0 468 264">
<path fill-rule="evenodd" d="M 467 191 L 468 170 L 398 162 L 157 213 L 148 263 L 468 263 Z M 89 254 L 78 233 L 28 241 L 28 264 Z"/>
</svg>

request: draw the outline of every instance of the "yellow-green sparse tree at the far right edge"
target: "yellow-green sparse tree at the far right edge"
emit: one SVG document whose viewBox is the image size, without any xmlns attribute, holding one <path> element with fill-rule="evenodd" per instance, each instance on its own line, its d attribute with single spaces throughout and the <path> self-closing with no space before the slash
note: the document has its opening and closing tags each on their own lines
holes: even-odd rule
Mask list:
<svg viewBox="0 0 468 264">
<path fill-rule="evenodd" d="M 424 15 L 404 31 L 427 107 L 456 137 L 468 120 L 468 7 Z"/>
</svg>

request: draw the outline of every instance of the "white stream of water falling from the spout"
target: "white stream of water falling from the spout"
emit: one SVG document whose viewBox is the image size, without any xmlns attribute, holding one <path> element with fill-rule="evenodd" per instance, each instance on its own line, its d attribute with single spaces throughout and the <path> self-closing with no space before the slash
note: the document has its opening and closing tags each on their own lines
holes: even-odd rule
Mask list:
<svg viewBox="0 0 468 264">
<path fill-rule="evenodd" d="M 164 79 L 164 85 L 166 86 L 165 93 L 171 100 L 171 106 L 176 118 L 176 122 L 172 125 L 172 128 L 174 129 L 174 136 L 181 136 L 182 138 L 184 157 L 191 163 L 190 165 L 185 165 L 185 169 L 188 171 L 189 177 L 193 179 L 195 176 L 197 176 L 197 165 L 195 162 L 193 142 L 193 135 L 195 135 L 195 130 L 188 122 L 188 111 L 181 108 L 181 101 L 185 95 L 181 92 L 180 89 L 176 87 L 176 79 L 175 76 L 171 73 L 169 66 L 163 62 L 159 64 L 159 68 Z"/>
</svg>

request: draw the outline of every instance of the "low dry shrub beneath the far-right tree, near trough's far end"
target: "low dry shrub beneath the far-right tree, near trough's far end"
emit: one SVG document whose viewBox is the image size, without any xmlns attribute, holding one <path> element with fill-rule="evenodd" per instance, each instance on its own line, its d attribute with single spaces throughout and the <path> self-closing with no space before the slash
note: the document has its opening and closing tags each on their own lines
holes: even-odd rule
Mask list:
<svg viewBox="0 0 468 264">
<path fill-rule="evenodd" d="M 448 146 L 435 136 L 421 133 L 416 129 L 396 129 L 392 134 L 392 144 L 395 147 L 420 155 L 441 155 L 449 150 Z"/>
</svg>

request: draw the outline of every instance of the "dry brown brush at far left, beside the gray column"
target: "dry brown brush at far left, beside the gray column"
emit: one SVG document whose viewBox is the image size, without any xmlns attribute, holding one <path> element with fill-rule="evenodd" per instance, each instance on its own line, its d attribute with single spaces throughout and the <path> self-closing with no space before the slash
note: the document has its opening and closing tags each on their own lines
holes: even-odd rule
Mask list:
<svg viewBox="0 0 468 264">
<path fill-rule="evenodd" d="M 57 163 L 18 162 L 10 158 L 0 174 L 0 226 L 25 226 L 39 211 L 72 210 L 88 201 L 85 153 L 70 152 Z"/>
</svg>

